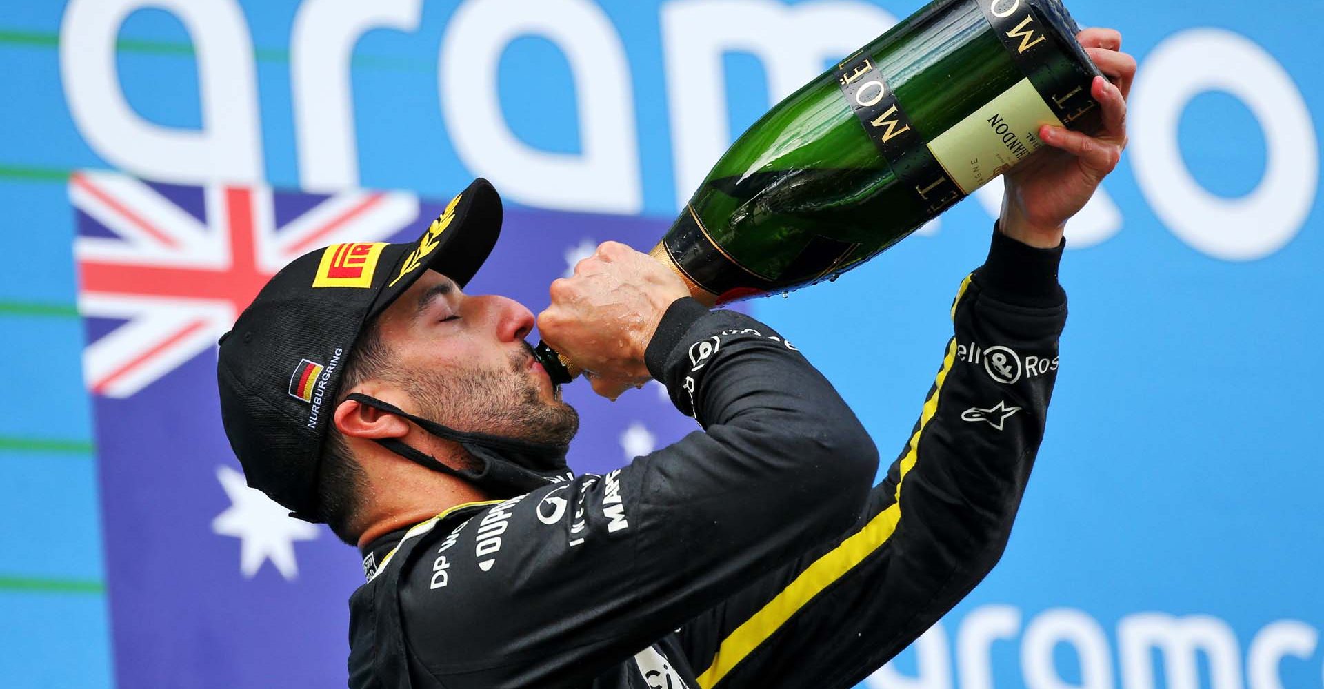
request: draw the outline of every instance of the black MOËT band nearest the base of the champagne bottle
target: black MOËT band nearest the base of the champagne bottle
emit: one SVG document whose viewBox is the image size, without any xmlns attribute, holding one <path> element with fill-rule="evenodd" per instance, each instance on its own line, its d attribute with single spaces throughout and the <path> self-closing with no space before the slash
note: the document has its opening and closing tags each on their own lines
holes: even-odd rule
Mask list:
<svg viewBox="0 0 1324 689">
<path fill-rule="evenodd" d="M 1070 19 L 1045 17 L 1030 0 L 976 0 L 976 4 L 1049 110 L 1072 130 L 1096 131 L 1102 114 L 1090 95 L 1090 82 L 1099 70 L 1088 56 L 1076 54 L 1079 50 L 1064 42 L 1074 40 L 1064 36 Z"/>
</svg>

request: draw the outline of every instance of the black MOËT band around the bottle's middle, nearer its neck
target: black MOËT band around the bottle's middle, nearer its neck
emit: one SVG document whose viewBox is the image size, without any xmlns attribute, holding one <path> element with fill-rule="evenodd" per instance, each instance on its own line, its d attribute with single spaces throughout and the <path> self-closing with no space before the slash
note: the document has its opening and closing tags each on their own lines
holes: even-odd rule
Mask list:
<svg viewBox="0 0 1324 689">
<path fill-rule="evenodd" d="M 837 65 L 837 86 L 865 127 L 869 139 L 900 180 L 935 216 L 965 194 L 929 152 L 928 144 L 902 110 L 883 73 L 863 52 Z"/>
</svg>

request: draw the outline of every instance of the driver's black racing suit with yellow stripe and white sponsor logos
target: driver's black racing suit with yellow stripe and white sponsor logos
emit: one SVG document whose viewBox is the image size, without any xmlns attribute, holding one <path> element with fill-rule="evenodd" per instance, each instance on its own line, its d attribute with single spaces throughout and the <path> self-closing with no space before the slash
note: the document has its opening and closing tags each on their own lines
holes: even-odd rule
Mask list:
<svg viewBox="0 0 1324 689">
<path fill-rule="evenodd" d="M 873 440 L 790 343 L 677 302 L 646 361 L 703 431 L 371 544 L 350 685 L 861 681 L 1001 557 L 1057 374 L 1061 251 L 994 231 L 919 422 L 871 489 Z"/>
</svg>

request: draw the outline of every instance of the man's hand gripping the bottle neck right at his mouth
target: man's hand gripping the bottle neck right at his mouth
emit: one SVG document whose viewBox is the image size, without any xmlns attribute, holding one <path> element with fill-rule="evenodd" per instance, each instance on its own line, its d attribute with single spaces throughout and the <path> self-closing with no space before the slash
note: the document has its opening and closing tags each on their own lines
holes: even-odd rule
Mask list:
<svg viewBox="0 0 1324 689">
<path fill-rule="evenodd" d="M 538 315 L 543 341 L 610 399 L 651 380 L 643 352 L 667 307 L 690 296 L 675 272 L 620 242 L 598 245 L 549 292 L 551 305 Z"/>
</svg>

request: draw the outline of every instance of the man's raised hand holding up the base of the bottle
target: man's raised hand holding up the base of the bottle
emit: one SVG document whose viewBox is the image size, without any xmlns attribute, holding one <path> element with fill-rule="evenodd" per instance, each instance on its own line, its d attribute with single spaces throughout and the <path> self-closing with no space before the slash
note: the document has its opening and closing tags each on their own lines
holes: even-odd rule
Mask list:
<svg viewBox="0 0 1324 689">
<path fill-rule="evenodd" d="M 1115 29 L 1086 29 L 1076 38 L 1108 77 L 1095 77 L 1090 85 L 1090 94 L 1103 108 L 1103 128 L 1090 136 L 1045 124 L 1039 139 L 1051 149 L 1004 176 L 1000 229 L 1041 249 L 1062 242 L 1067 220 L 1084 208 L 1127 147 L 1127 95 L 1136 77 L 1136 60 L 1121 52 L 1121 33 Z"/>
</svg>

